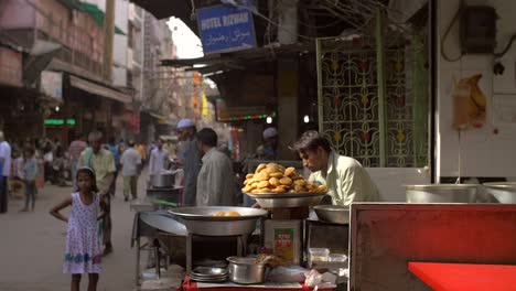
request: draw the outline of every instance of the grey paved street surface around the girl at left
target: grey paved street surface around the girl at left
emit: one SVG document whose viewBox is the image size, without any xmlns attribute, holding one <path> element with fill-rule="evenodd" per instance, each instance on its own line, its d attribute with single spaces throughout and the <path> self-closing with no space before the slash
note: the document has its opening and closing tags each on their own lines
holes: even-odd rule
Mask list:
<svg viewBox="0 0 516 291">
<path fill-rule="evenodd" d="M 133 213 L 129 202 L 123 202 L 121 183 L 112 201 L 112 240 L 115 251 L 104 258 L 104 272 L 98 290 L 135 289 L 135 249 L 130 248 Z M 139 195 L 144 195 L 143 175 L 139 179 Z M 22 200 L 11 200 L 9 212 L 0 215 L 0 290 L 61 291 L 69 290 L 71 276 L 62 273 L 66 238 L 66 224 L 49 214 L 49 211 L 72 187 L 46 184 L 37 195 L 33 213 L 19 213 Z M 82 289 L 86 290 L 87 277 Z"/>
</svg>

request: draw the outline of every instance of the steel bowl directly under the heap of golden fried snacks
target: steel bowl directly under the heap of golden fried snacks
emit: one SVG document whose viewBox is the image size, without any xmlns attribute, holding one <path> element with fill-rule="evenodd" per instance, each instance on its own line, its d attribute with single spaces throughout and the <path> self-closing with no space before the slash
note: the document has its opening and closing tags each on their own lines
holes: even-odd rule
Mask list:
<svg viewBox="0 0 516 291">
<path fill-rule="evenodd" d="M 245 194 L 256 200 L 262 208 L 313 206 L 326 195 L 325 192 Z"/>
</svg>

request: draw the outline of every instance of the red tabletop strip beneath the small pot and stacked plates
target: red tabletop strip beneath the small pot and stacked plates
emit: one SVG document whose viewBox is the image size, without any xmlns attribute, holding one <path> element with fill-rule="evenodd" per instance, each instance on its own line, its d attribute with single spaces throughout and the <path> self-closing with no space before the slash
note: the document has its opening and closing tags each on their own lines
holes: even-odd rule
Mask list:
<svg viewBox="0 0 516 291">
<path fill-rule="evenodd" d="M 197 285 L 195 281 L 192 281 L 189 276 L 184 279 L 183 291 L 200 291 L 201 289 L 209 291 L 312 291 L 313 289 L 307 287 L 305 284 L 299 284 L 299 287 L 293 287 L 294 284 L 286 284 L 286 287 L 277 285 L 237 285 L 237 284 L 224 284 L 224 283 L 214 283 L 209 287 L 202 288 Z M 332 291 L 333 289 L 319 289 L 319 291 Z"/>
</svg>

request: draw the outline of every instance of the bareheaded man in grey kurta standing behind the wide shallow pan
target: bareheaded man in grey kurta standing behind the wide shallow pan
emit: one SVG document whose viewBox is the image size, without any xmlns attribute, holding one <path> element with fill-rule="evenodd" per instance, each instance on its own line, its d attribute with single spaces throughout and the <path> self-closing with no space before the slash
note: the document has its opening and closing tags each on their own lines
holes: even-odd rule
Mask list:
<svg viewBox="0 0 516 291">
<path fill-rule="evenodd" d="M 217 134 L 211 128 L 197 132 L 203 165 L 197 176 L 197 206 L 236 205 L 236 186 L 232 160 L 216 149 Z"/>
</svg>

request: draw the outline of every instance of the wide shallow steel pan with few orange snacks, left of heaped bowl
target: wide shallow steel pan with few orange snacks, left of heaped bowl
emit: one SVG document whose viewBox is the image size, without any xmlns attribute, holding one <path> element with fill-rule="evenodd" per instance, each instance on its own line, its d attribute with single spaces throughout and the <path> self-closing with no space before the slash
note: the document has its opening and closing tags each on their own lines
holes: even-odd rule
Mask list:
<svg viewBox="0 0 516 291">
<path fill-rule="evenodd" d="M 232 211 L 240 216 L 213 216 L 216 212 Z M 267 215 L 264 209 L 229 206 L 171 208 L 169 213 L 181 217 L 190 234 L 201 236 L 249 235 L 256 229 L 256 222 Z"/>
</svg>

